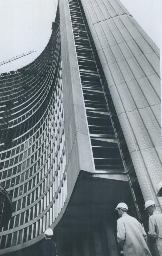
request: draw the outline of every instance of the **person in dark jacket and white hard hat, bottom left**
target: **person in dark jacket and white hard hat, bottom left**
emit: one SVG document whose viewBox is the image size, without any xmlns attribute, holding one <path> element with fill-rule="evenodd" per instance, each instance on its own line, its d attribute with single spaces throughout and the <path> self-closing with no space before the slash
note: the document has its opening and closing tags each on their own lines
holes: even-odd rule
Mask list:
<svg viewBox="0 0 162 256">
<path fill-rule="evenodd" d="M 58 246 L 52 240 L 53 230 L 48 228 L 45 230 L 45 239 L 38 248 L 38 256 L 58 256 Z"/>
</svg>

